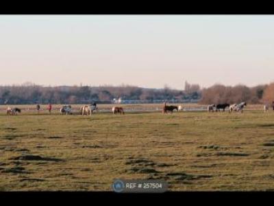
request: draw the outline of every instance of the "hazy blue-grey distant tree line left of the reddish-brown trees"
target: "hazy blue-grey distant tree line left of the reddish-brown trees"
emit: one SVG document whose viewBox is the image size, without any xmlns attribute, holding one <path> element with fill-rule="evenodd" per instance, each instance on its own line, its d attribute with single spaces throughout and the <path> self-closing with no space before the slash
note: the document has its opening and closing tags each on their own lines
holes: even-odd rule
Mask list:
<svg viewBox="0 0 274 206">
<path fill-rule="evenodd" d="M 196 89 L 195 89 L 196 88 Z M 91 102 L 110 103 L 114 98 L 123 100 L 175 100 L 177 102 L 199 100 L 201 90 L 190 84 L 187 91 L 170 89 L 147 89 L 122 85 L 121 87 L 62 86 L 42 87 L 25 83 L 0 86 L 0 104 L 89 104 Z"/>
</svg>

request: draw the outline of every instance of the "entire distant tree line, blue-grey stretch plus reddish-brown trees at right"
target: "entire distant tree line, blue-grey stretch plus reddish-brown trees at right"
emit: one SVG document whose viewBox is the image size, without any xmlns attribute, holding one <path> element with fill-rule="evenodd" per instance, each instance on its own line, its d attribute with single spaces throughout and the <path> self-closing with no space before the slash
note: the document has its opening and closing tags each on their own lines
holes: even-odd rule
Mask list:
<svg viewBox="0 0 274 206">
<path fill-rule="evenodd" d="M 0 86 L 0 104 L 89 104 L 111 103 L 114 98 L 123 100 L 140 100 L 153 102 L 159 100 L 174 100 L 175 102 L 192 102 L 200 104 L 234 104 L 248 102 L 249 104 L 271 103 L 274 101 L 274 82 L 256 87 L 238 84 L 227 87 L 214 84 L 203 88 L 199 84 L 185 82 L 184 89 L 147 89 L 122 85 L 112 87 L 62 86 L 42 87 L 25 83 L 21 85 Z"/>
</svg>

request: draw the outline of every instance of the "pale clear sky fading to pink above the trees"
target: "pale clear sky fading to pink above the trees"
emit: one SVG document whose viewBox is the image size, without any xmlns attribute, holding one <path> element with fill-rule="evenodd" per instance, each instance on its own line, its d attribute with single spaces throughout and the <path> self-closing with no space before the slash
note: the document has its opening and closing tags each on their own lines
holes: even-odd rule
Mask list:
<svg viewBox="0 0 274 206">
<path fill-rule="evenodd" d="M 274 15 L 0 15 L 0 84 L 274 81 Z"/>
</svg>

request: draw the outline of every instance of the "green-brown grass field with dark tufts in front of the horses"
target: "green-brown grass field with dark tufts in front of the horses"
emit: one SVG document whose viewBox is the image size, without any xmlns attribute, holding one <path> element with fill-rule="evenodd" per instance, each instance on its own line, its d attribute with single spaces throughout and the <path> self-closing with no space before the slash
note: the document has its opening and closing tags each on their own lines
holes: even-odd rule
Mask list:
<svg viewBox="0 0 274 206">
<path fill-rule="evenodd" d="M 4 112 L 0 191 L 110 191 L 113 179 L 164 179 L 171 191 L 274 190 L 273 111 Z"/>
</svg>

